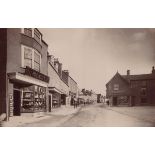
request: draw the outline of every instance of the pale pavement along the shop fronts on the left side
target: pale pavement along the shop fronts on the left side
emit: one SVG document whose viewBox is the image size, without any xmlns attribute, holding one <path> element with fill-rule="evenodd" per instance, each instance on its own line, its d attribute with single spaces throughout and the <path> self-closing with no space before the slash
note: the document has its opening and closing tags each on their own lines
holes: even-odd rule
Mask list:
<svg viewBox="0 0 155 155">
<path fill-rule="evenodd" d="M 3 122 L 3 127 L 20 127 L 27 126 L 28 124 L 34 124 L 40 121 L 45 121 L 53 118 L 66 118 L 66 116 L 73 115 L 80 110 L 81 107 L 75 108 L 73 106 L 61 106 L 59 108 L 53 108 L 51 112 L 40 113 L 40 114 L 24 114 L 21 116 L 13 116 L 9 118 L 9 121 Z M 57 125 L 61 121 L 53 122 L 53 125 Z M 65 120 L 64 120 L 65 121 Z"/>
</svg>

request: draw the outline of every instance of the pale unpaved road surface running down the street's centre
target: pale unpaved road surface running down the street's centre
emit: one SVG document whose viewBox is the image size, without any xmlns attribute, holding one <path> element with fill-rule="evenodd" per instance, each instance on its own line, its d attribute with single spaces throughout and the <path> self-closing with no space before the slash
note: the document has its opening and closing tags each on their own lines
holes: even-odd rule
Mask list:
<svg viewBox="0 0 155 155">
<path fill-rule="evenodd" d="M 120 107 L 121 108 L 121 107 Z M 101 104 L 83 106 L 76 114 L 53 116 L 23 126 L 44 127 L 151 127 L 155 122 L 108 109 Z"/>
</svg>

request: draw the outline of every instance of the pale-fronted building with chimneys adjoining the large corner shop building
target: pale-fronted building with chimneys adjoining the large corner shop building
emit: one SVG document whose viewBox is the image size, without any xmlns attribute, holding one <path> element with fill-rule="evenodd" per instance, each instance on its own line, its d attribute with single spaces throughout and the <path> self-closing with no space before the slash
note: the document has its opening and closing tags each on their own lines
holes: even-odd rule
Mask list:
<svg viewBox="0 0 155 155">
<path fill-rule="evenodd" d="M 64 80 L 62 64 L 52 55 L 48 55 L 48 75 L 50 77 L 48 85 L 49 111 L 51 111 L 52 107 L 66 105 L 69 97 L 69 86 L 68 82 Z"/>
</svg>

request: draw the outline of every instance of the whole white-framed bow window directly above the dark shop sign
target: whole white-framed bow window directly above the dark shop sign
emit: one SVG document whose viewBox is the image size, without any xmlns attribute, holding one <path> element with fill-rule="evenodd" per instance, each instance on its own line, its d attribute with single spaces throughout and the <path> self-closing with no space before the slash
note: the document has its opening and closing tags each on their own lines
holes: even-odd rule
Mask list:
<svg viewBox="0 0 155 155">
<path fill-rule="evenodd" d="M 35 49 L 22 45 L 22 67 L 26 66 L 39 72 L 41 67 L 41 55 Z"/>
</svg>

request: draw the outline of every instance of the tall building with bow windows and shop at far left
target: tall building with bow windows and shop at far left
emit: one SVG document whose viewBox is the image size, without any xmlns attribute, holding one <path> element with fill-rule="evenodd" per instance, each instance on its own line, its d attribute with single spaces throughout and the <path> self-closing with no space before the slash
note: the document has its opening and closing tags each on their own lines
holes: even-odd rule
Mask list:
<svg viewBox="0 0 155 155">
<path fill-rule="evenodd" d="M 34 28 L 0 29 L 0 114 L 47 111 L 48 45 Z"/>
</svg>

